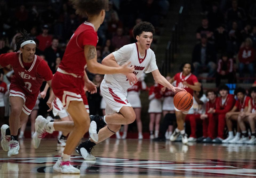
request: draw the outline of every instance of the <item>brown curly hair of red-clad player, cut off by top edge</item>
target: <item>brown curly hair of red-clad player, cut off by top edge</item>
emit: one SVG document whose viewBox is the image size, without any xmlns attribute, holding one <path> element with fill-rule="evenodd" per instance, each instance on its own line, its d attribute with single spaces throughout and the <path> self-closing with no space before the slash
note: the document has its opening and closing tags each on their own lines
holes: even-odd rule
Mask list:
<svg viewBox="0 0 256 178">
<path fill-rule="evenodd" d="M 98 15 L 108 7 L 108 0 L 69 0 L 75 12 L 82 17 Z"/>
</svg>

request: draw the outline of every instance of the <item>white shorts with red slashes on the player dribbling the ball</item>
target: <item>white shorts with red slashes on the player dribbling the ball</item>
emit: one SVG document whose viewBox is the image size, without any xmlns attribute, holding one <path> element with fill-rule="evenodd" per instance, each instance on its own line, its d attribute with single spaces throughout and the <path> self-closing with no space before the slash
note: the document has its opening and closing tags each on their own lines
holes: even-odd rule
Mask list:
<svg viewBox="0 0 256 178">
<path fill-rule="evenodd" d="M 123 106 L 131 107 L 131 104 L 127 100 L 127 92 L 120 90 L 113 86 L 110 82 L 105 79 L 101 82 L 101 94 L 106 101 L 106 114 L 109 112 L 119 112 Z M 112 110 L 107 112 L 107 110 Z"/>
</svg>

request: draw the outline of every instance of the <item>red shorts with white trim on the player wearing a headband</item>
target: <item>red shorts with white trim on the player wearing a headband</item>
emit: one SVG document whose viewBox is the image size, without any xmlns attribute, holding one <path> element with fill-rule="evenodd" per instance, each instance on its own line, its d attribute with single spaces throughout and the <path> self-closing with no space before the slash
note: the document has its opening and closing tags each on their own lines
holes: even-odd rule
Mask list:
<svg viewBox="0 0 256 178">
<path fill-rule="evenodd" d="M 37 102 L 38 95 L 39 92 L 28 94 L 25 92 L 25 90 L 22 89 L 21 86 L 18 86 L 17 84 L 11 83 L 10 85 L 10 96 L 19 96 L 24 100 L 22 111 L 27 115 L 30 115 L 31 111 L 33 110 L 35 103 Z"/>
</svg>

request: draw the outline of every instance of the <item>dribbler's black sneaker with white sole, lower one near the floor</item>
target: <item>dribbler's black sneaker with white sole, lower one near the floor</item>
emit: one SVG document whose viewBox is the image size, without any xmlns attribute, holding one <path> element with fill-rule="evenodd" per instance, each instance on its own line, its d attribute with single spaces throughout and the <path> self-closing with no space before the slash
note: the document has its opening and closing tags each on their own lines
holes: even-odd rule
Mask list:
<svg viewBox="0 0 256 178">
<path fill-rule="evenodd" d="M 91 142 L 89 139 L 85 142 L 82 142 L 78 147 L 75 148 L 75 151 L 83 157 L 85 160 L 95 160 L 95 156 L 91 154 L 93 146 L 96 144 Z"/>
</svg>

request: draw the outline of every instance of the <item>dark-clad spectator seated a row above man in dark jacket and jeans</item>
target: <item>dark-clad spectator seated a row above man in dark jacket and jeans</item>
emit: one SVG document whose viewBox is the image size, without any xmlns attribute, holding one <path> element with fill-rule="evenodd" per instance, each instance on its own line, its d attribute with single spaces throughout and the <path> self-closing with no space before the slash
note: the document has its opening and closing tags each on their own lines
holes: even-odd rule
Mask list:
<svg viewBox="0 0 256 178">
<path fill-rule="evenodd" d="M 197 29 L 196 38 L 201 39 L 202 35 L 206 35 L 207 39 L 213 41 L 213 30 L 209 27 L 208 19 L 204 17 L 202 19 L 202 26 Z"/>
</svg>

